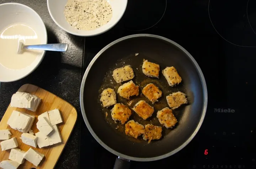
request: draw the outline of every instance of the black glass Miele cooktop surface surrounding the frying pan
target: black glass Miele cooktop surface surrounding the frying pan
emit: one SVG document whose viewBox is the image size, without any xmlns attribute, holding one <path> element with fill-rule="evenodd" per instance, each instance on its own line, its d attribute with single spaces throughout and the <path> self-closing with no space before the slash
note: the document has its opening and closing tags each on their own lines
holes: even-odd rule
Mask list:
<svg viewBox="0 0 256 169">
<path fill-rule="evenodd" d="M 156 34 L 183 46 L 206 79 L 208 107 L 201 129 L 175 155 L 132 162 L 132 169 L 255 168 L 256 1 L 128 1 L 110 31 L 85 38 L 84 71 L 108 43 L 131 34 Z M 116 156 L 81 123 L 80 168 L 113 168 Z"/>
</svg>

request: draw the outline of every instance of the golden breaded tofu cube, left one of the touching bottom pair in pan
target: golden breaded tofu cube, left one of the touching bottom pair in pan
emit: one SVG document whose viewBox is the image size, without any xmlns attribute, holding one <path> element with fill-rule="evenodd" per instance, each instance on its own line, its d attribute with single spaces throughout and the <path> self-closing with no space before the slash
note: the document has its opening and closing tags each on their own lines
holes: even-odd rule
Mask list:
<svg viewBox="0 0 256 169">
<path fill-rule="evenodd" d="M 125 133 L 137 139 L 138 136 L 144 134 L 144 126 L 134 120 L 130 120 L 126 123 Z"/>
</svg>

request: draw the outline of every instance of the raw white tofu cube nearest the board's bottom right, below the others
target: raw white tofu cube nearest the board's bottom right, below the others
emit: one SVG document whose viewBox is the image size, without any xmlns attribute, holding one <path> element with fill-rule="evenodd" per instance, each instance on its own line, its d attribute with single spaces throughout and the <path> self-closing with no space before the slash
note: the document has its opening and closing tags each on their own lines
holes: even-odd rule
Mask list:
<svg viewBox="0 0 256 169">
<path fill-rule="evenodd" d="M 33 150 L 32 148 L 28 149 L 28 151 L 24 154 L 24 158 L 36 166 L 38 166 L 38 164 L 42 161 L 43 157 L 43 154 Z"/>
</svg>

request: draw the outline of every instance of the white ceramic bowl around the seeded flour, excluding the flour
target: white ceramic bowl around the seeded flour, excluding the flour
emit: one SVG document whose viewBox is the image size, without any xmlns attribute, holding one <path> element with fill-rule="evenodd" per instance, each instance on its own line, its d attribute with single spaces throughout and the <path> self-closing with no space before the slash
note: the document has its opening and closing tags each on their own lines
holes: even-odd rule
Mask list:
<svg viewBox="0 0 256 169">
<path fill-rule="evenodd" d="M 112 7 L 113 16 L 107 24 L 95 30 L 78 30 L 66 22 L 64 16 L 64 7 L 68 0 L 47 0 L 47 7 L 53 21 L 66 32 L 77 36 L 95 36 L 111 29 L 122 18 L 126 10 L 127 0 L 107 0 Z"/>
</svg>

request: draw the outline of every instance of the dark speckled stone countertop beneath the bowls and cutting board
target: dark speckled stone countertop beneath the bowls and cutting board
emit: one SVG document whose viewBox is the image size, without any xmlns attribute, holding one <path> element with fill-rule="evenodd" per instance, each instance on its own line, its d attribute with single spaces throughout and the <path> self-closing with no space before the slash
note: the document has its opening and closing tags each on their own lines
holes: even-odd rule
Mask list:
<svg viewBox="0 0 256 169">
<path fill-rule="evenodd" d="M 17 2 L 31 7 L 46 25 L 48 43 L 68 43 L 69 48 L 65 53 L 46 52 L 42 63 L 27 77 L 16 82 L 0 83 L 0 118 L 10 104 L 12 94 L 26 83 L 44 88 L 68 101 L 78 111 L 78 120 L 55 168 L 78 168 L 81 115 L 79 93 L 84 37 L 74 36 L 60 29 L 48 13 L 46 0 L 0 0 L 0 4 L 7 2 Z"/>
</svg>

